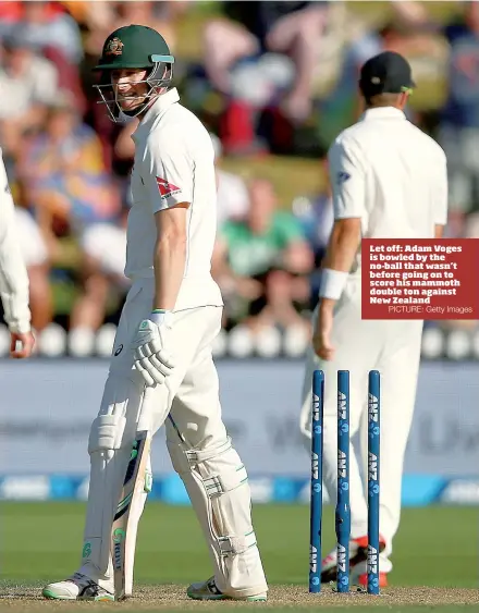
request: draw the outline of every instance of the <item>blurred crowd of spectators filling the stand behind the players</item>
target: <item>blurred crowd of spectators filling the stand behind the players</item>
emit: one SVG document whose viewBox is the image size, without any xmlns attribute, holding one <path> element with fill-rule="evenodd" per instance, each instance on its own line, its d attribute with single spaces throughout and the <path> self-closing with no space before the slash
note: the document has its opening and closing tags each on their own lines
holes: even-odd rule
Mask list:
<svg viewBox="0 0 479 613">
<path fill-rule="evenodd" d="M 358 70 L 381 50 L 410 60 L 419 87 L 407 112 L 446 151 L 447 236 L 479 237 L 479 4 L 442 2 L 454 4 L 446 19 L 435 2 L 359 4 L 0 1 L 0 146 L 37 331 L 54 322 L 72 342 L 93 336 L 118 320 L 128 287 L 136 120 L 110 122 L 91 68 L 107 35 L 130 23 L 164 36 L 183 102 L 210 130 L 226 330 L 309 333 L 333 222 L 324 156 L 357 119 Z M 287 176 L 258 172 L 279 158 L 294 159 Z M 316 162 L 314 191 L 295 181 L 303 159 Z"/>
</svg>

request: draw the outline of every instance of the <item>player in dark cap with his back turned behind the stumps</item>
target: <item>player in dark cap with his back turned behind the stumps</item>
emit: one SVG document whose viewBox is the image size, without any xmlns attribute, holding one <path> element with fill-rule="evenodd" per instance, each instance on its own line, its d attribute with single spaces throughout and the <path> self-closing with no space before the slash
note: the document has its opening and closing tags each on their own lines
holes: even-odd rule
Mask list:
<svg viewBox="0 0 479 613">
<path fill-rule="evenodd" d="M 311 378 L 324 370 L 324 486 L 335 504 L 337 470 L 336 375 L 351 372 L 351 436 L 359 431 L 367 461 L 368 371 L 381 373 L 380 585 L 401 515 L 403 459 L 413 418 L 422 321 L 361 319 L 361 237 L 441 237 L 447 217 L 446 160 L 441 147 L 405 117 L 414 83 L 400 54 L 384 52 L 361 69 L 366 111 L 329 150 L 334 225 L 323 262 L 315 333 L 303 388 L 300 430 L 310 453 Z M 364 436 L 366 432 L 366 437 Z M 363 473 L 365 475 L 365 473 Z M 352 581 L 366 585 L 367 500 L 351 448 Z M 336 578 L 336 554 L 321 580 Z"/>
</svg>

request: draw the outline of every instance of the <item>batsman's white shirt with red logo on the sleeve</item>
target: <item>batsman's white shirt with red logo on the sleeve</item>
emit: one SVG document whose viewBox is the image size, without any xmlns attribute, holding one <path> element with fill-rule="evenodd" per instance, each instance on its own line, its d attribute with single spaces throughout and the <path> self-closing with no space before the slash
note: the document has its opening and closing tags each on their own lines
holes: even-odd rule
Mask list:
<svg viewBox="0 0 479 613">
<path fill-rule="evenodd" d="M 222 306 L 211 277 L 217 231 L 217 185 L 211 138 L 175 88 L 159 96 L 133 140 L 132 208 L 126 232 L 125 274 L 133 281 L 153 277 L 155 214 L 180 203 L 187 211 L 186 266 L 175 310 Z"/>
</svg>

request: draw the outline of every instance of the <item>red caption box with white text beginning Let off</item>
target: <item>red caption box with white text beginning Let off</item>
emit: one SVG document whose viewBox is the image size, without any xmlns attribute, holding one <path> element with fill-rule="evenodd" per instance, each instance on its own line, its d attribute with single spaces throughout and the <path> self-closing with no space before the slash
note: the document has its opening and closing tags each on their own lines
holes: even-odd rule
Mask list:
<svg viewBox="0 0 479 613">
<path fill-rule="evenodd" d="M 479 238 L 364 238 L 363 319 L 479 319 Z"/>
</svg>

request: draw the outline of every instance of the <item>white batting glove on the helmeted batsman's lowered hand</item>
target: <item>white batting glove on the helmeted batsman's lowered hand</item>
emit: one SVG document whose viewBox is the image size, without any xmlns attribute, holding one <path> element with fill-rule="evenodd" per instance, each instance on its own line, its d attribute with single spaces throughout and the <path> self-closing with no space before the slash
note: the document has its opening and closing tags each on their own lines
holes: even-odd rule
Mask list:
<svg viewBox="0 0 479 613">
<path fill-rule="evenodd" d="M 165 348 L 171 318 L 171 311 L 152 312 L 142 321 L 133 341 L 134 365 L 148 387 L 164 383 L 174 368 L 173 357 Z"/>
</svg>

